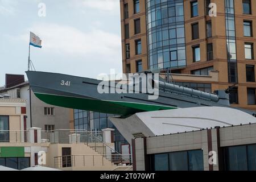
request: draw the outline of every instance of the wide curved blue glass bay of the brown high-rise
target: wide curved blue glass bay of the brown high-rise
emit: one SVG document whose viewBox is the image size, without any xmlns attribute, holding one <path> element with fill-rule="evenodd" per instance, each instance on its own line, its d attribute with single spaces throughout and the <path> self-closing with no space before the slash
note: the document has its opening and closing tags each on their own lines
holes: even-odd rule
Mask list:
<svg viewBox="0 0 256 182">
<path fill-rule="evenodd" d="M 147 0 L 146 15 L 150 69 L 184 68 L 183 0 Z"/>
</svg>

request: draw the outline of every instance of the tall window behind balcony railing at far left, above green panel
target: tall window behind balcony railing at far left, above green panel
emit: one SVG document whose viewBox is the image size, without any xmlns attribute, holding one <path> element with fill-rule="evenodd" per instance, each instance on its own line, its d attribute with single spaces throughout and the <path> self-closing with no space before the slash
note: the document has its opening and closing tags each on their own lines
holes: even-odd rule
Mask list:
<svg viewBox="0 0 256 182">
<path fill-rule="evenodd" d="M 0 115 L 0 142 L 9 142 L 9 139 L 9 116 Z"/>
</svg>

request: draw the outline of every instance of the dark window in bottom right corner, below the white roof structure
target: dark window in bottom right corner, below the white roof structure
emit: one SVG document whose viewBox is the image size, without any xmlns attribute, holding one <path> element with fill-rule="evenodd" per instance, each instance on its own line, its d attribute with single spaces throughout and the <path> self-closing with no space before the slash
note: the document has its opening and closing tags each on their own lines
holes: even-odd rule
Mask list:
<svg viewBox="0 0 256 182">
<path fill-rule="evenodd" d="M 225 147 L 224 158 L 228 171 L 255 171 L 256 144 Z"/>
</svg>

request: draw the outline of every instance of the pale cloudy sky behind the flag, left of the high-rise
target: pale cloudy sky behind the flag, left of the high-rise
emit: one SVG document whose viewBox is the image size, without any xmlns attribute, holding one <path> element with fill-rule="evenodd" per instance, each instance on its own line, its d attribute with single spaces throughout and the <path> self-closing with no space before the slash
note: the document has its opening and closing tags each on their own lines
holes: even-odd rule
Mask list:
<svg viewBox="0 0 256 182">
<path fill-rule="evenodd" d="M 31 47 L 36 71 L 122 72 L 119 0 L 0 0 L 0 86 L 5 73 L 25 74 L 30 31 L 42 39 L 42 49 Z"/>
</svg>

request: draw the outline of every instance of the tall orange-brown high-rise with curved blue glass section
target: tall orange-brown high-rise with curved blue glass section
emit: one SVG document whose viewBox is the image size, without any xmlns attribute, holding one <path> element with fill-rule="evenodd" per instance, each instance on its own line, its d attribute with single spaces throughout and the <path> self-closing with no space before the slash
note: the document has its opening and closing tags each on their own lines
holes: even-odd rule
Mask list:
<svg viewBox="0 0 256 182">
<path fill-rule="evenodd" d="M 208 76 L 217 71 L 212 92 L 233 86 L 230 104 L 256 110 L 256 1 L 120 2 L 124 73 L 170 68 Z M 214 10 L 209 5 L 216 7 L 216 16 L 209 16 Z"/>
</svg>

